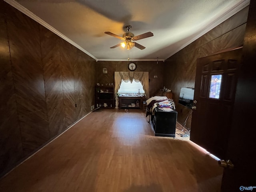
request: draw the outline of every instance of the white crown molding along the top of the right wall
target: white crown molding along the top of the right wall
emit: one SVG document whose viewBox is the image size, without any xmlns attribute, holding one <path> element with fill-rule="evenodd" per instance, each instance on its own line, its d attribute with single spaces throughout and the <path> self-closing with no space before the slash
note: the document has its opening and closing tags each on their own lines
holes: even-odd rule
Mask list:
<svg viewBox="0 0 256 192">
<path fill-rule="evenodd" d="M 241 2 L 238 5 L 233 6 L 233 8 L 229 11 L 226 12 L 225 14 L 223 14 L 220 18 L 218 18 L 217 20 L 215 20 L 214 22 L 212 22 L 211 24 L 208 25 L 208 27 L 204 28 L 197 36 L 195 36 L 194 38 L 192 38 L 191 40 L 189 40 L 188 42 L 186 42 L 186 44 L 182 45 L 180 48 L 178 48 L 176 51 L 172 52 L 167 58 L 165 58 L 164 60 L 167 60 L 169 57 L 173 56 L 174 54 L 176 54 L 177 52 L 179 52 L 180 50 L 182 50 L 184 47 L 188 46 L 190 43 L 194 42 L 195 40 L 197 40 L 198 38 L 200 38 L 201 36 L 203 36 L 204 34 L 206 34 L 207 32 L 209 32 L 210 30 L 212 30 L 214 27 L 218 26 L 219 24 L 221 24 L 222 22 L 226 21 L 228 18 L 232 17 L 234 14 L 238 13 L 240 10 L 242 10 L 243 8 L 246 8 L 248 5 L 250 4 L 250 0 L 244 0 L 243 2 Z"/>
</svg>

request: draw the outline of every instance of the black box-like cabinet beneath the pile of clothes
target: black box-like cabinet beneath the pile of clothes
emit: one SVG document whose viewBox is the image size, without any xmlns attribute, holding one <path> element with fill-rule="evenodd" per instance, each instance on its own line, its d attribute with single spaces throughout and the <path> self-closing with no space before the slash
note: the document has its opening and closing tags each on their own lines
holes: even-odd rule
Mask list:
<svg viewBox="0 0 256 192">
<path fill-rule="evenodd" d="M 155 114 L 151 116 L 151 127 L 155 136 L 175 137 L 177 111 L 163 111 L 154 108 Z"/>
</svg>

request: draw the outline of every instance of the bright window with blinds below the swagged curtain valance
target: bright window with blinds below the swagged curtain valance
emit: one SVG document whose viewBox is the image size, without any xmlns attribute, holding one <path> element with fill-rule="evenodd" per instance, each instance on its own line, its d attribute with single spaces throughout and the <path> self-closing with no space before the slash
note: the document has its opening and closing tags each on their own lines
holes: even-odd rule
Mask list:
<svg viewBox="0 0 256 192">
<path fill-rule="evenodd" d="M 132 93 L 138 94 L 139 90 L 140 90 L 140 94 L 145 93 L 141 82 L 135 82 L 133 80 L 132 83 L 130 81 L 126 83 L 122 80 L 118 93 L 119 94 L 132 94 Z"/>
</svg>

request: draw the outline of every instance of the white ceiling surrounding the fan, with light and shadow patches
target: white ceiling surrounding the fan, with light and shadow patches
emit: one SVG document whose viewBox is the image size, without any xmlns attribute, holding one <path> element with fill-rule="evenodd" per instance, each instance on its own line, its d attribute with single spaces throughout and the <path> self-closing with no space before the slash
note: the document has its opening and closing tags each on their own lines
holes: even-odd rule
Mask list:
<svg viewBox="0 0 256 192">
<path fill-rule="evenodd" d="M 98 60 L 166 60 L 249 4 L 249 0 L 5 0 L 80 50 Z M 131 51 L 122 36 L 131 25 L 136 41 Z"/>
</svg>

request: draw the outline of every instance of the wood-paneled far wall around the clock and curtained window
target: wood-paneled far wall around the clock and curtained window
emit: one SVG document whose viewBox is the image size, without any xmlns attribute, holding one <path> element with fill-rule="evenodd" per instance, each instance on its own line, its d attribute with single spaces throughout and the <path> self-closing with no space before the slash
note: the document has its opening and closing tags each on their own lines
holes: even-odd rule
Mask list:
<svg viewBox="0 0 256 192">
<path fill-rule="evenodd" d="M 134 48 L 136 49 L 136 48 Z M 134 50 L 135 51 L 135 50 Z M 140 50 L 136 50 L 140 51 Z M 98 61 L 97 62 L 97 83 L 106 84 L 106 83 L 115 83 L 114 82 L 114 72 L 115 71 L 129 71 L 128 64 L 130 61 Z M 135 61 L 137 64 L 136 71 L 145 71 L 148 72 L 149 82 L 149 94 L 150 97 L 154 96 L 160 89 L 163 88 L 164 84 L 164 62 L 158 61 Z M 108 73 L 103 74 L 102 69 L 107 68 Z M 158 78 L 154 78 L 157 75 Z"/>
</svg>

